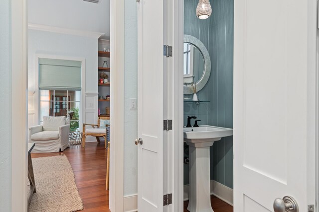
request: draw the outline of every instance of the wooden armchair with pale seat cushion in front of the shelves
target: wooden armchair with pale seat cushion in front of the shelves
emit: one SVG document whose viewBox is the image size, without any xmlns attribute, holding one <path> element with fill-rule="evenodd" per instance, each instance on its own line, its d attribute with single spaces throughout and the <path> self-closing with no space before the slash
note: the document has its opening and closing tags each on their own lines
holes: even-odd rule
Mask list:
<svg viewBox="0 0 319 212">
<path fill-rule="evenodd" d="M 87 136 L 94 136 L 98 142 L 100 142 L 99 137 L 104 138 L 104 147 L 107 147 L 107 130 L 106 129 L 100 129 L 100 122 L 101 119 L 104 120 L 110 120 L 110 117 L 99 117 L 98 124 L 83 124 L 83 139 L 82 139 L 82 147 L 85 147 L 85 138 Z M 89 125 L 92 128 L 85 129 L 85 127 Z"/>
</svg>

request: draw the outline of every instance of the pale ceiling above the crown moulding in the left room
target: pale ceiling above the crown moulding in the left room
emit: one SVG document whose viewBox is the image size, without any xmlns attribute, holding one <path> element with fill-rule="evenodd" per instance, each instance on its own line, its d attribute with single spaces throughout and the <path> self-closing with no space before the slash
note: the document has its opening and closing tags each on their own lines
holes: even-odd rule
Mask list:
<svg viewBox="0 0 319 212">
<path fill-rule="evenodd" d="M 110 0 L 28 0 L 28 22 L 102 32 L 110 38 Z"/>
</svg>

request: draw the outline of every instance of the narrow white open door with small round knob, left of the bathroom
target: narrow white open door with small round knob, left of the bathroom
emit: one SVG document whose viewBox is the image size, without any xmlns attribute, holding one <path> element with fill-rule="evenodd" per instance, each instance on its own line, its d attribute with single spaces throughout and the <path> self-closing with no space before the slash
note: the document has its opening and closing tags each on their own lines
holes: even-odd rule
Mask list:
<svg viewBox="0 0 319 212">
<path fill-rule="evenodd" d="M 163 0 L 138 2 L 138 210 L 163 210 Z"/>
</svg>

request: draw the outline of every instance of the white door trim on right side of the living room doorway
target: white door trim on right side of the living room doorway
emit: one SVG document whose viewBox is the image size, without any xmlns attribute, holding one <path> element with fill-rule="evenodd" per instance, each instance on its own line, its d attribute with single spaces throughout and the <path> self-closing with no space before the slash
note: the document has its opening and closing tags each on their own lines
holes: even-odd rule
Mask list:
<svg viewBox="0 0 319 212">
<path fill-rule="evenodd" d="M 124 201 L 124 0 L 110 1 L 110 195 L 112 212 L 123 212 Z M 116 71 L 115 71 L 116 70 Z M 133 142 L 133 141 L 132 141 Z"/>
</svg>

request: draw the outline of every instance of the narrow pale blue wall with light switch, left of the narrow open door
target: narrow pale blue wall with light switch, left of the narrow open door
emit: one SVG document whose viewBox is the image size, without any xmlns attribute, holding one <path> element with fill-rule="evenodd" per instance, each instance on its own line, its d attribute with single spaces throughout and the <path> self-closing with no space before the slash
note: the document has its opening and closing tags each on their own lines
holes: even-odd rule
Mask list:
<svg viewBox="0 0 319 212">
<path fill-rule="evenodd" d="M 137 6 L 125 1 L 125 100 L 124 100 L 124 196 L 137 194 L 138 111 L 130 109 L 130 98 L 137 98 Z M 137 103 L 139 105 L 139 103 Z"/>
</svg>

